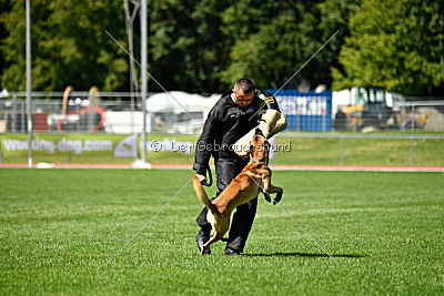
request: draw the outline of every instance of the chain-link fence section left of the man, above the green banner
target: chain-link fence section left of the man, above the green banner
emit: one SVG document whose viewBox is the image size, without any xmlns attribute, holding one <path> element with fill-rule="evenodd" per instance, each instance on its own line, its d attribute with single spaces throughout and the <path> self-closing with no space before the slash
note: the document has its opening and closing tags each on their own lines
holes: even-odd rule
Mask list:
<svg viewBox="0 0 444 296">
<path fill-rule="evenodd" d="M 149 94 L 149 98 L 154 95 Z M 110 133 L 142 132 L 143 114 L 140 94 L 104 92 L 33 92 L 32 122 L 38 133 Z M 10 93 L 0 99 L 0 133 L 28 133 L 26 93 Z M 204 111 L 169 108 L 150 112 L 147 109 L 147 132 L 198 133 L 203 126 Z M 192 116 L 192 118 L 191 118 Z M 193 119 L 193 120 L 191 120 Z"/>
</svg>

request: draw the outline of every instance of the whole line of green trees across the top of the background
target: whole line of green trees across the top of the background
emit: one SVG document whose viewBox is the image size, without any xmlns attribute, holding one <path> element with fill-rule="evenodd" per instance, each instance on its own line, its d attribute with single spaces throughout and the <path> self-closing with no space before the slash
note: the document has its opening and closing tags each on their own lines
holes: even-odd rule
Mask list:
<svg viewBox="0 0 444 296">
<path fill-rule="evenodd" d="M 139 2 L 128 1 L 130 9 Z M 24 91 L 26 2 L 0 0 L 0 88 Z M 32 0 L 32 89 L 130 89 L 123 0 Z M 128 23 L 127 23 L 128 24 Z M 444 94 L 442 0 L 148 0 L 148 71 L 168 90 L 319 84 Z M 140 22 L 134 19 L 140 60 Z M 337 34 L 292 79 L 314 52 Z M 161 91 L 149 81 L 149 91 Z"/>
</svg>

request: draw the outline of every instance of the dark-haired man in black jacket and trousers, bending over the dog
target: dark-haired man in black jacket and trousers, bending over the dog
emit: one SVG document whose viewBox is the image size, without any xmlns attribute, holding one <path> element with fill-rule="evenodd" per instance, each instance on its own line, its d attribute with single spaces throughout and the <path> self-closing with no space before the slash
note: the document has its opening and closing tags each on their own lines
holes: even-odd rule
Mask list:
<svg viewBox="0 0 444 296">
<path fill-rule="evenodd" d="M 276 100 L 270 94 L 255 89 L 249 78 L 240 79 L 231 92 L 222 98 L 210 111 L 201 136 L 195 146 L 193 170 L 199 180 L 206 180 L 206 167 L 211 155 L 214 159 L 219 195 L 231 181 L 245 167 L 249 160 L 242 160 L 232 145 L 258 125 L 260 109 L 279 111 Z M 241 255 L 253 225 L 258 207 L 258 197 L 236 207 L 231 224 L 225 255 Z M 195 239 L 199 251 L 210 239 L 211 224 L 206 221 L 206 207 L 196 218 L 201 227 Z M 206 252 L 211 253 L 210 249 Z"/>
</svg>

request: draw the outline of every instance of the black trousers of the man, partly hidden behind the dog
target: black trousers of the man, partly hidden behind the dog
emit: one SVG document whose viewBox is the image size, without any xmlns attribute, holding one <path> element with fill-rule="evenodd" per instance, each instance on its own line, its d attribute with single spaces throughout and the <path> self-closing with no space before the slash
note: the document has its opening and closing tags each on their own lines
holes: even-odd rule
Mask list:
<svg viewBox="0 0 444 296">
<path fill-rule="evenodd" d="M 231 159 L 219 159 L 215 164 L 216 175 L 216 196 L 230 185 L 231 181 L 242 172 L 248 161 L 238 161 Z M 214 197 L 215 198 L 215 197 Z M 214 200 L 213 198 L 213 200 Z M 233 215 L 231 228 L 229 233 L 229 242 L 226 248 L 231 248 L 238 253 L 242 253 L 245 247 L 251 227 L 253 226 L 254 216 L 256 215 L 258 197 L 236 207 Z M 210 231 L 211 224 L 206 221 L 208 208 L 204 207 L 195 222 L 203 231 Z"/>
</svg>

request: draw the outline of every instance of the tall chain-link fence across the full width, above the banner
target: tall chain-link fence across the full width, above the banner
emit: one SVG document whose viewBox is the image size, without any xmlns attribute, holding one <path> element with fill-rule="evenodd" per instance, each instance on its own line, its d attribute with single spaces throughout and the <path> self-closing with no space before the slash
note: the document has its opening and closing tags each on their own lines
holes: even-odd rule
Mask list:
<svg viewBox="0 0 444 296">
<path fill-rule="evenodd" d="M 147 103 L 147 132 L 200 133 L 216 95 L 201 96 L 198 103 L 182 108 L 183 94 L 176 102 L 155 99 Z M 190 94 L 186 94 L 190 96 Z M 10 93 L 0 99 L 0 133 L 27 133 L 26 93 Z M 142 131 L 140 95 L 124 92 L 33 92 L 33 131 L 38 133 L 110 133 L 132 134 Z M 202 99 L 203 98 L 203 99 Z M 349 105 L 339 109 L 331 94 L 301 95 L 283 91 L 278 95 L 286 115 L 287 131 L 444 131 L 444 100 L 395 100 L 391 108 L 381 104 Z M 175 99 L 174 99 L 175 100 Z M 183 99 L 185 100 L 185 99 Z M 186 99 L 188 100 L 188 99 Z M 203 101 L 202 101 L 203 100 Z M 181 104 L 179 104 L 182 102 Z M 199 102 L 204 102 L 203 104 Z M 174 108 L 173 108 L 174 106 Z"/>
</svg>

